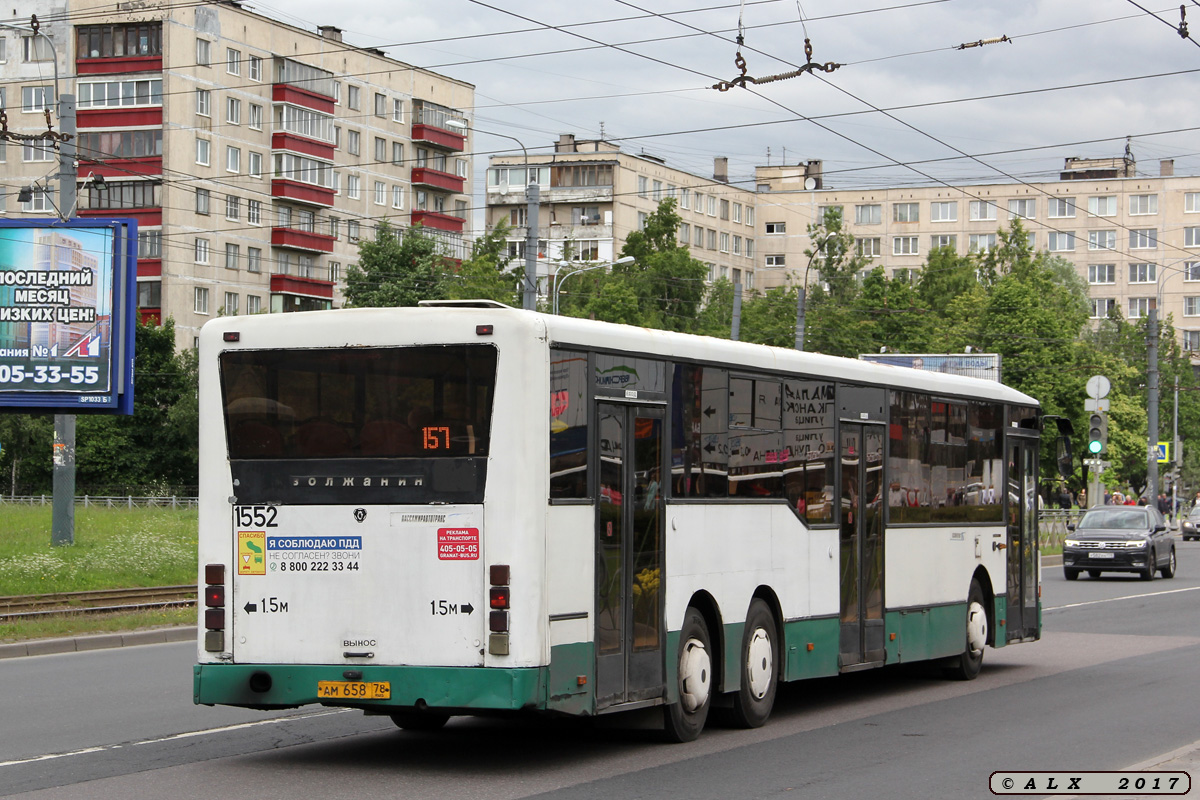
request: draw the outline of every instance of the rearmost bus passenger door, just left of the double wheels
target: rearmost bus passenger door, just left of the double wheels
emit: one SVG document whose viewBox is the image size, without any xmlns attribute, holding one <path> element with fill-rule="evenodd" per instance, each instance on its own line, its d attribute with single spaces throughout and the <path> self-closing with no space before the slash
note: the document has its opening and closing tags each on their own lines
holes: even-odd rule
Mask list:
<svg viewBox="0 0 1200 800">
<path fill-rule="evenodd" d="M 662 409 L 599 403 L 596 709 L 662 697 Z"/>
</svg>

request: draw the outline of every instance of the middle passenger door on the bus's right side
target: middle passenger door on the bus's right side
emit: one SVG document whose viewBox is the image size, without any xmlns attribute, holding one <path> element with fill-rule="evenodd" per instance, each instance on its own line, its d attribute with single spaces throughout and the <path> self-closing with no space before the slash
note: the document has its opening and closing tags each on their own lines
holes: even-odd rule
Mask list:
<svg viewBox="0 0 1200 800">
<path fill-rule="evenodd" d="M 883 426 L 842 423 L 841 637 L 842 672 L 882 664 L 883 644 Z"/>
</svg>

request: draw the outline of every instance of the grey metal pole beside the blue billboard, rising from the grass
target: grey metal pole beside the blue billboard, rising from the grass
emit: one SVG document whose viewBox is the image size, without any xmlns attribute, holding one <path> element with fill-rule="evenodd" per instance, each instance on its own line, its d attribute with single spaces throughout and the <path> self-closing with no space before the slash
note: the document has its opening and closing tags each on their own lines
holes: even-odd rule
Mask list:
<svg viewBox="0 0 1200 800">
<path fill-rule="evenodd" d="M 59 130 L 64 133 L 59 144 L 59 218 L 66 221 L 76 210 L 76 181 L 79 178 L 76 168 L 74 95 L 59 97 Z M 50 522 L 50 545 L 54 546 L 74 545 L 74 415 L 55 414 L 54 507 Z"/>
</svg>

